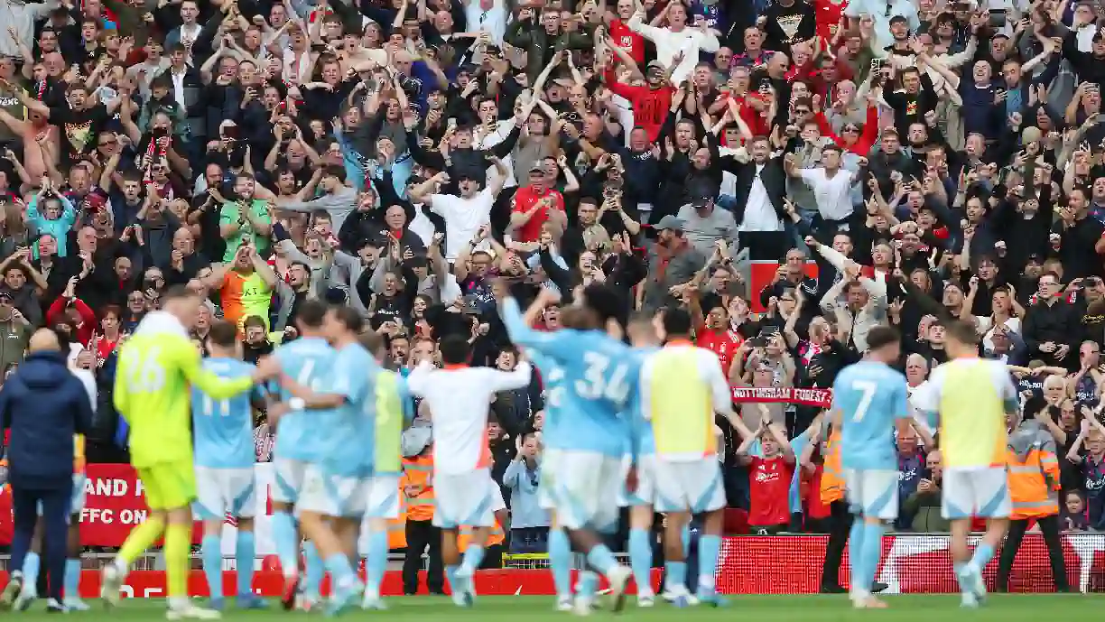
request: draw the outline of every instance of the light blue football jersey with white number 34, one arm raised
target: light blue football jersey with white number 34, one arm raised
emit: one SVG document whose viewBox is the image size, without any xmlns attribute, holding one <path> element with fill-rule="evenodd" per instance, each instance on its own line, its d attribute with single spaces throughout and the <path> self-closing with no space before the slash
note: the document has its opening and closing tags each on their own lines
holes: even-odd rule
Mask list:
<svg viewBox="0 0 1105 622">
<path fill-rule="evenodd" d="M 640 375 L 630 347 L 600 330 L 534 330 L 520 321 L 516 302 L 507 299 L 504 306 L 504 318 L 519 319 L 508 324 L 504 319 L 511 340 L 554 367 L 550 376 L 558 387 L 549 391 L 546 403 L 566 433 L 551 441 L 543 433 L 546 446 L 625 455 L 631 428 L 625 415 Z"/>
</svg>

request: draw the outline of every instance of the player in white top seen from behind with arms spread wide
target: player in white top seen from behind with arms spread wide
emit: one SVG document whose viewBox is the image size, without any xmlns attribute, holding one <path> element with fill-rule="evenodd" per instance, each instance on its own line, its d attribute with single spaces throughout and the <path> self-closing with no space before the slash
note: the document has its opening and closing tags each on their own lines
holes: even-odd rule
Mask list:
<svg viewBox="0 0 1105 622">
<path fill-rule="evenodd" d="M 453 546 L 442 547 L 445 574 L 453 588 L 453 602 L 470 607 L 475 597 L 472 578 L 483 559 L 484 544 L 495 524 L 495 491 L 487 446 L 487 410 L 498 391 L 529 386 L 532 369 L 522 361 L 514 371 L 467 367 L 469 342 L 459 335 L 441 340 L 443 369 L 423 360 L 407 378 L 411 394 L 430 404 L 433 424 L 433 524 L 445 541 L 455 541 L 457 529 L 473 528 L 463 562 Z"/>
</svg>

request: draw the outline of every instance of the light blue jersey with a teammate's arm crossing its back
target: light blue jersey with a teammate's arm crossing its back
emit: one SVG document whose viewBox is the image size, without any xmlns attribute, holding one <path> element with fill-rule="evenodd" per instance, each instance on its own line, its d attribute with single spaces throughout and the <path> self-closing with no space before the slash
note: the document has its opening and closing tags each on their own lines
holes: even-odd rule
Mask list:
<svg viewBox="0 0 1105 622">
<path fill-rule="evenodd" d="M 320 337 L 304 337 L 285 344 L 273 351 L 281 370 L 301 384 L 318 390 L 330 373 L 334 348 Z M 281 399 L 292 394 L 281 389 Z M 276 428 L 277 458 L 319 463 L 326 455 L 326 434 L 336 417 L 333 410 L 290 411 L 280 419 Z"/>
</svg>

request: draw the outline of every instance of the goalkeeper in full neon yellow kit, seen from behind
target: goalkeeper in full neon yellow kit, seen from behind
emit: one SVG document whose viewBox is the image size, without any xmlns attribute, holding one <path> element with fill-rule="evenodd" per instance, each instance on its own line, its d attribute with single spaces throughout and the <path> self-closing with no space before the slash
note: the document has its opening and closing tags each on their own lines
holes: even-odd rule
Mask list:
<svg viewBox="0 0 1105 622">
<path fill-rule="evenodd" d="M 189 431 L 190 387 L 212 399 L 225 399 L 250 389 L 265 375 L 262 363 L 253 377 L 221 379 L 200 366 L 200 352 L 188 330 L 199 313 L 200 298 L 182 287 L 162 296 L 164 307 L 143 318 L 119 351 L 115 376 L 115 408 L 130 426 L 130 463 L 141 478 L 150 513 L 130 531 L 115 561 L 104 568 L 103 593 L 108 605 L 118 602 L 129 565 L 164 533 L 168 578 L 167 618 L 218 619 L 188 599 L 188 556 L 191 546 L 191 502 L 196 472 Z"/>
</svg>

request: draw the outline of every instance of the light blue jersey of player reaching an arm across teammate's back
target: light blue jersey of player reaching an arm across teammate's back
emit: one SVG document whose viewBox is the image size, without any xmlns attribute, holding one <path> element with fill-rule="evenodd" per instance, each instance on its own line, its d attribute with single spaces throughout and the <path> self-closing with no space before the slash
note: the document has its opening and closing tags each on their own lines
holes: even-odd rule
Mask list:
<svg viewBox="0 0 1105 622">
<path fill-rule="evenodd" d="M 317 389 L 339 394 L 345 403 L 335 411 L 325 433 L 327 473 L 348 477 L 372 474 L 376 451 L 376 376 L 380 366 L 360 344 L 347 344 L 334 356 L 330 372 Z"/>
</svg>

